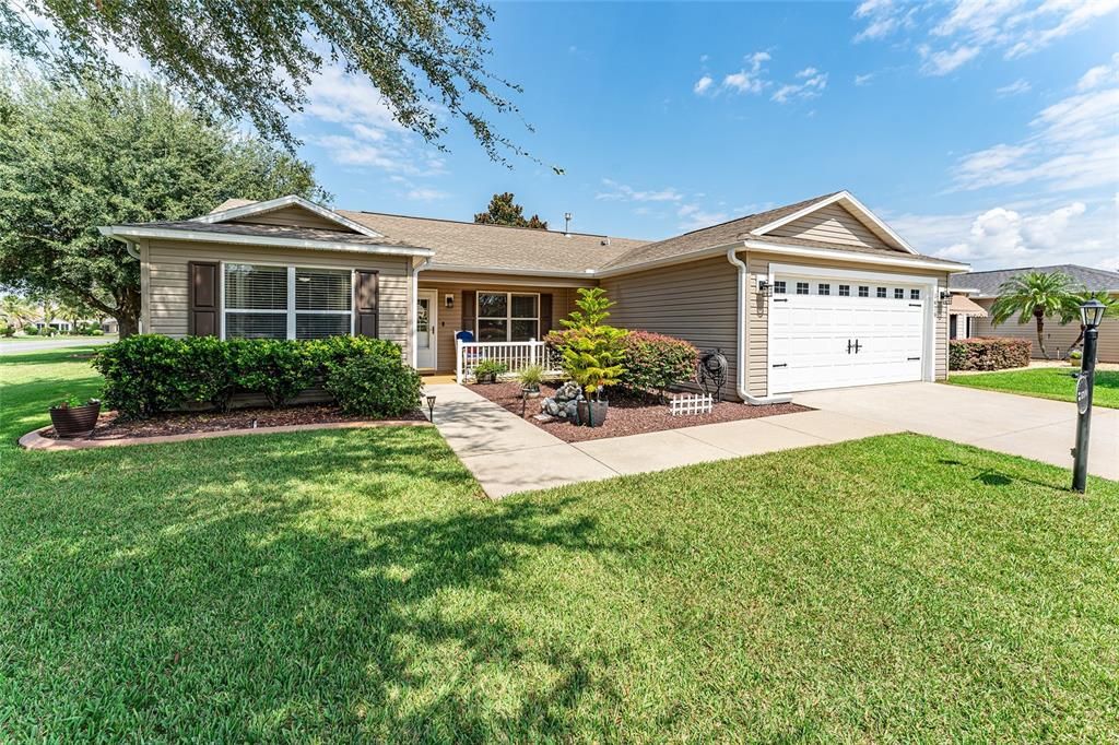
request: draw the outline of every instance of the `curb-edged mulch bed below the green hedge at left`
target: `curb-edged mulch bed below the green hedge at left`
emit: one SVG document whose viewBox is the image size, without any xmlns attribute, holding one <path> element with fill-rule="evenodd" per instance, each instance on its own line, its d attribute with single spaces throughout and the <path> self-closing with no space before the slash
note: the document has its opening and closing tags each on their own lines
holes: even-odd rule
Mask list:
<svg viewBox="0 0 1119 745">
<path fill-rule="evenodd" d="M 159 437 L 163 435 L 192 434 L 196 432 L 223 432 L 226 430 L 251 430 L 275 427 L 290 424 L 330 424 L 335 422 L 365 422 L 367 416 L 348 416 L 336 406 L 307 404 L 285 408 L 237 408 L 223 412 L 179 412 L 161 414 L 150 419 L 122 422 L 116 412 L 103 412 L 97 417 L 97 427 L 88 438 L 121 440 L 124 437 Z M 420 412 L 394 421 L 426 421 Z M 255 422 L 255 424 L 254 424 Z M 54 427 L 41 433 L 44 437 L 58 438 Z"/>
</svg>

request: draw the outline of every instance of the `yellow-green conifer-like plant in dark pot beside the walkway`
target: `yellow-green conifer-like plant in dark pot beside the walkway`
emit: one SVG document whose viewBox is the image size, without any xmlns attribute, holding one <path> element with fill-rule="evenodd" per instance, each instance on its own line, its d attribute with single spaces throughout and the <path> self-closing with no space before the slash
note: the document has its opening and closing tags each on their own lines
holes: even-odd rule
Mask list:
<svg viewBox="0 0 1119 745">
<path fill-rule="evenodd" d="M 567 376 L 585 394 L 585 398 L 576 405 L 579 423 L 595 427 L 606 421 L 609 412 L 609 402 L 602 397 L 603 390 L 617 384 L 626 371 L 620 364 L 624 355 L 622 340 L 626 331 L 603 323 L 610 317 L 606 309 L 613 305 L 606 300 L 604 290 L 581 287 L 579 295 L 575 303 L 579 310 L 561 321 L 572 329 L 563 348 L 563 366 Z"/>
</svg>

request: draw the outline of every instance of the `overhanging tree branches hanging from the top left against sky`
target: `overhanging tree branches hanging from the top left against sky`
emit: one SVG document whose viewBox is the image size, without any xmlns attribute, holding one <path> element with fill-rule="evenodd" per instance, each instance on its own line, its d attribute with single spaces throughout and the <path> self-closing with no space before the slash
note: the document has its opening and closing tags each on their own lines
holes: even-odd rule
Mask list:
<svg viewBox="0 0 1119 745">
<path fill-rule="evenodd" d="M 489 114 L 519 91 L 486 66 L 492 9 L 480 0 L 20 0 L 0 2 L 0 49 L 56 82 L 120 73 L 111 48 L 147 60 L 184 100 L 246 116 L 291 151 L 286 114 L 327 65 L 368 78 L 397 122 L 438 143 L 467 122 L 496 160 L 520 152 Z M 445 114 L 445 115 L 444 115 Z"/>
</svg>

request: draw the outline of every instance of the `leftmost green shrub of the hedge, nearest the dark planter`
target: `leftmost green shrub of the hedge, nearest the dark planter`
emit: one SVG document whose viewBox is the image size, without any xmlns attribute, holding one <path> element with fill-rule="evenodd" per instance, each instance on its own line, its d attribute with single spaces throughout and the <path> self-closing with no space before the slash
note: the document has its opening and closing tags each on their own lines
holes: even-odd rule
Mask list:
<svg viewBox="0 0 1119 745">
<path fill-rule="evenodd" d="M 184 400 L 182 342 L 158 334 L 137 334 L 109 345 L 93 358 L 105 376 L 102 400 L 121 416 L 142 419 Z"/>
</svg>

